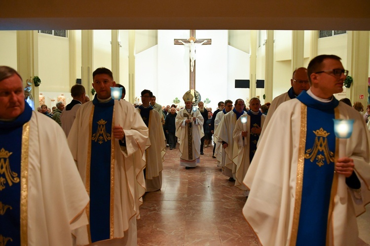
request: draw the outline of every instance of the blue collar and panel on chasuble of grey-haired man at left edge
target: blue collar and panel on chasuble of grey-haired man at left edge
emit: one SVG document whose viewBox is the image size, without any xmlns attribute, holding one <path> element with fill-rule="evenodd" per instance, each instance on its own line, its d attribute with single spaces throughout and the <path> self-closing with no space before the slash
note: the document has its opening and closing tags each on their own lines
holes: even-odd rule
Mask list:
<svg viewBox="0 0 370 246">
<path fill-rule="evenodd" d="M 0 235 L 7 245 L 21 245 L 22 129 L 31 116 L 26 103 L 15 121 L 0 122 Z"/>
</svg>

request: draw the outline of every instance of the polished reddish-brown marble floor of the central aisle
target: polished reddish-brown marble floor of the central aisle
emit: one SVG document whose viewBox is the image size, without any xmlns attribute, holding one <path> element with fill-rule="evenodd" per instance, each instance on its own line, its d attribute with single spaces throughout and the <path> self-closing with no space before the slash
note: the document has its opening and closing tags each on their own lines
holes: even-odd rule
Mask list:
<svg viewBox="0 0 370 246">
<path fill-rule="evenodd" d="M 179 149 L 167 148 L 162 189 L 146 193 L 140 207 L 138 245 L 260 245 L 242 215 L 246 197 L 221 174 L 212 149 L 205 148 L 198 166 L 186 170 L 179 165 Z M 368 212 L 359 217 L 364 218 L 360 237 L 369 235 L 369 216 Z M 357 245 L 369 245 L 363 240 L 359 238 Z"/>
</svg>

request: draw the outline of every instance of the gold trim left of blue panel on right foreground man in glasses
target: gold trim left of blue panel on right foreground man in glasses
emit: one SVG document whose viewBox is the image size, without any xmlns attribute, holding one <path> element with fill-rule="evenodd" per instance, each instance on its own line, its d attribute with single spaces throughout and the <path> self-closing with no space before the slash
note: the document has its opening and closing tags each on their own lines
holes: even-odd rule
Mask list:
<svg viewBox="0 0 370 246">
<path fill-rule="evenodd" d="M 297 161 L 297 174 L 296 174 L 296 199 L 293 213 L 293 225 L 290 245 L 295 246 L 298 234 L 300 205 L 302 202 L 302 186 L 303 186 L 303 170 L 304 170 L 304 152 L 306 146 L 307 134 L 307 106 L 303 103 L 300 104 L 300 133 L 299 133 L 299 149 Z"/>
</svg>

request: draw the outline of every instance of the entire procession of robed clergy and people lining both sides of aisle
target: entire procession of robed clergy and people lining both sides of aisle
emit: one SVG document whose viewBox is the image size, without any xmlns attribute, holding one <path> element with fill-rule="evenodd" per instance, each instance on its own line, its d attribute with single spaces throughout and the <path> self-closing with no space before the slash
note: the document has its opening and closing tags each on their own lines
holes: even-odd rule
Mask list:
<svg viewBox="0 0 370 246">
<path fill-rule="evenodd" d="M 339 57 L 317 56 L 271 104 L 227 99 L 212 114 L 190 91 L 182 109 L 162 109 L 149 90 L 133 106 L 101 67 L 91 101 L 76 84 L 72 102 L 57 104 L 58 125 L 46 105 L 44 117 L 25 103 L 19 73 L 0 66 L 0 244 L 137 245 L 166 149 L 179 146 L 180 166 L 196 170 L 213 135 L 214 164 L 244 191 L 242 213 L 261 245 L 355 245 L 356 216 L 370 202 L 370 135 L 368 119 L 333 96 L 347 75 Z M 349 137 L 335 119 L 353 120 Z"/>
</svg>

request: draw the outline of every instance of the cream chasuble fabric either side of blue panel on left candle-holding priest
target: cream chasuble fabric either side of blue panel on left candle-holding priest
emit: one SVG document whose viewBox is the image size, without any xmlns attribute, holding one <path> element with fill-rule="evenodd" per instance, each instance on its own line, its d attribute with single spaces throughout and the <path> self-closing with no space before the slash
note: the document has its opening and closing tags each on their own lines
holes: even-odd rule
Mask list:
<svg viewBox="0 0 370 246">
<path fill-rule="evenodd" d="M 117 103 L 118 102 L 118 103 Z M 90 158 L 89 141 L 91 141 L 93 101 L 83 104 L 77 112 L 76 119 L 68 135 L 68 143 L 77 167 L 86 185 L 87 160 Z M 148 141 L 148 127 L 143 122 L 135 107 L 125 100 L 115 100 L 114 122 L 120 125 L 125 134 L 126 147 L 120 147 L 118 140 L 114 143 L 114 221 L 113 238 L 123 238 L 124 231 L 136 227 L 129 227 L 130 218 L 140 218 L 139 206 L 143 203 L 145 194 L 145 148 Z M 91 118 L 90 118 L 91 117 Z M 90 120 L 91 119 L 91 120 Z M 75 231 L 77 245 L 86 245 L 88 239 L 87 227 L 80 227 Z M 134 237 L 130 245 L 136 245 Z"/>
</svg>

